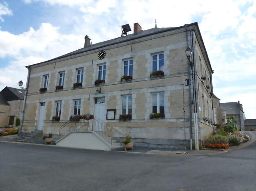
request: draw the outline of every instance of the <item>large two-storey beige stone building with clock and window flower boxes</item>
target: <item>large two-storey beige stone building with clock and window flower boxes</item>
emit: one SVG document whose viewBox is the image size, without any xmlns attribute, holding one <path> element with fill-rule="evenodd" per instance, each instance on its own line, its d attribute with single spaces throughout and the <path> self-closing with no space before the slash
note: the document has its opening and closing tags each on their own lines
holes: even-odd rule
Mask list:
<svg viewBox="0 0 256 191">
<path fill-rule="evenodd" d="M 187 47 L 192 50 L 191 68 Z M 97 44 L 90 44 L 85 36 L 83 48 L 27 68 L 24 125 L 28 131 L 59 134 L 59 127 L 71 115 L 89 113 L 121 133 L 129 133 L 135 146 L 189 148 L 193 120 L 200 143 L 212 133 L 203 117 L 213 120 L 213 70 L 197 23 L 148 30 L 135 23 L 133 34 Z M 152 76 L 152 72 L 162 76 Z M 132 76 L 132 80 L 121 80 L 122 76 Z M 95 81 L 102 83 L 95 85 Z M 45 92 L 39 92 L 40 88 Z M 151 113 L 160 113 L 161 118 L 150 119 Z M 120 115 L 132 119 L 122 121 Z M 53 122 L 53 116 L 60 121 Z"/>
</svg>

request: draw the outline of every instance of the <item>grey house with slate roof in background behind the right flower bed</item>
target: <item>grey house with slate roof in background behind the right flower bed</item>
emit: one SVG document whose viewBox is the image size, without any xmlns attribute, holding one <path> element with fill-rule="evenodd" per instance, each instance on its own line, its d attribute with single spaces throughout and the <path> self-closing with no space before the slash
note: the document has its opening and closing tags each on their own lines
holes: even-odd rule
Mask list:
<svg viewBox="0 0 256 191">
<path fill-rule="evenodd" d="M 220 106 L 226 110 L 226 115 L 234 116 L 237 122 L 237 130 L 243 131 L 245 129 L 245 113 L 243 112 L 243 105 L 240 102 L 220 103 Z"/>
</svg>

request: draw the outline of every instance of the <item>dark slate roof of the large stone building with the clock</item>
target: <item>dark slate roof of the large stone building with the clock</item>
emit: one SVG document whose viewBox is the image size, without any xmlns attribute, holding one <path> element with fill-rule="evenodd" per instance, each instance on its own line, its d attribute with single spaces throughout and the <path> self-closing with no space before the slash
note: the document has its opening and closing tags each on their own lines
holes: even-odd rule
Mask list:
<svg viewBox="0 0 256 191">
<path fill-rule="evenodd" d="M 190 25 L 197 25 L 198 26 L 197 22 L 188 24 L 188 26 L 190 26 Z M 165 31 L 171 31 L 171 30 L 174 30 L 174 29 L 182 28 L 182 27 L 184 27 L 184 25 L 183 26 L 179 26 L 179 27 L 166 27 L 166 28 L 154 27 L 152 29 L 147 29 L 147 30 L 141 31 L 139 33 L 135 33 L 135 34 L 133 33 L 133 34 L 130 34 L 130 35 L 126 35 L 126 36 L 122 36 L 122 37 L 118 37 L 118 38 L 113 38 L 111 40 L 106 40 L 106 41 L 103 41 L 103 42 L 92 44 L 89 47 L 83 47 L 83 48 L 78 49 L 76 51 L 72 51 L 72 52 L 67 53 L 65 55 L 58 56 L 58 57 L 53 58 L 51 60 L 47 60 L 47 61 L 40 62 L 40 63 L 37 63 L 37 64 L 43 64 L 45 62 L 50 62 L 50 61 L 53 61 L 53 60 L 58 60 L 59 58 L 65 58 L 67 56 L 76 55 L 76 54 L 79 54 L 79 53 L 84 53 L 84 52 L 91 51 L 91 50 L 94 50 L 94 49 L 103 48 L 103 47 L 106 47 L 106 46 L 109 46 L 109 45 L 114 45 L 114 44 L 118 44 L 118 43 L 121 43 L 121 42 L 126 42 L 128 40 L 134 40 L 136 38 L 142 38 L 144 36 L 149 36 L 149 35 L 154 35 L 154 34 L 158 34 L 158 33 L 163 33 Z M 33 65 L 37 65 L 37 64 L 32 64 L 32 65 L 29 65 L 29 66 L 33 66 Z M 29 66 L 26 66 L 26 67 L 29 67 Z"/>
</svg>

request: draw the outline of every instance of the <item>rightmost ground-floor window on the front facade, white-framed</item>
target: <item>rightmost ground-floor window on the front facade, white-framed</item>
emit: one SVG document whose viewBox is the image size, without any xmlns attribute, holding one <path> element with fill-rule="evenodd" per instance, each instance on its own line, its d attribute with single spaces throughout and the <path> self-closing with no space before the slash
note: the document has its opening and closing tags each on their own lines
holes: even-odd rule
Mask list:
<svg viewBox="0 0 256 191">
<path fill-rule="evenodd" d="M 152 113 L 165 114 L 165 94 L 152 93 Z"/>
</svg>

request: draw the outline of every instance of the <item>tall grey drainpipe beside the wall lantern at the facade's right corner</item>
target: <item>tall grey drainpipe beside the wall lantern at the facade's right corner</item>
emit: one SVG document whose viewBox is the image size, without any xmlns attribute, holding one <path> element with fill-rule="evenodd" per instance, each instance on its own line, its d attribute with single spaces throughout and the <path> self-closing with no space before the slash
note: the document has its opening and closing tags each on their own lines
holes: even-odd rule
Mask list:
<svg viewBox="0 0 256 191">
<path fill-rule="evenodd" d="M 187 35 L 187 24 L 184 25 L 186 28 L 186 40 L 187 40 L 187 47 L 189 47 L 188 43 L 188 35 Z M 188 82 L 189 82 L 189 133 L 190 133 L 190 150 L 192 150 L 192 105 L 191 105 L 191 83 L 190 83 L 190 61 L 187 59 L 187 75 L 188 75 Z"/>
</svg>

